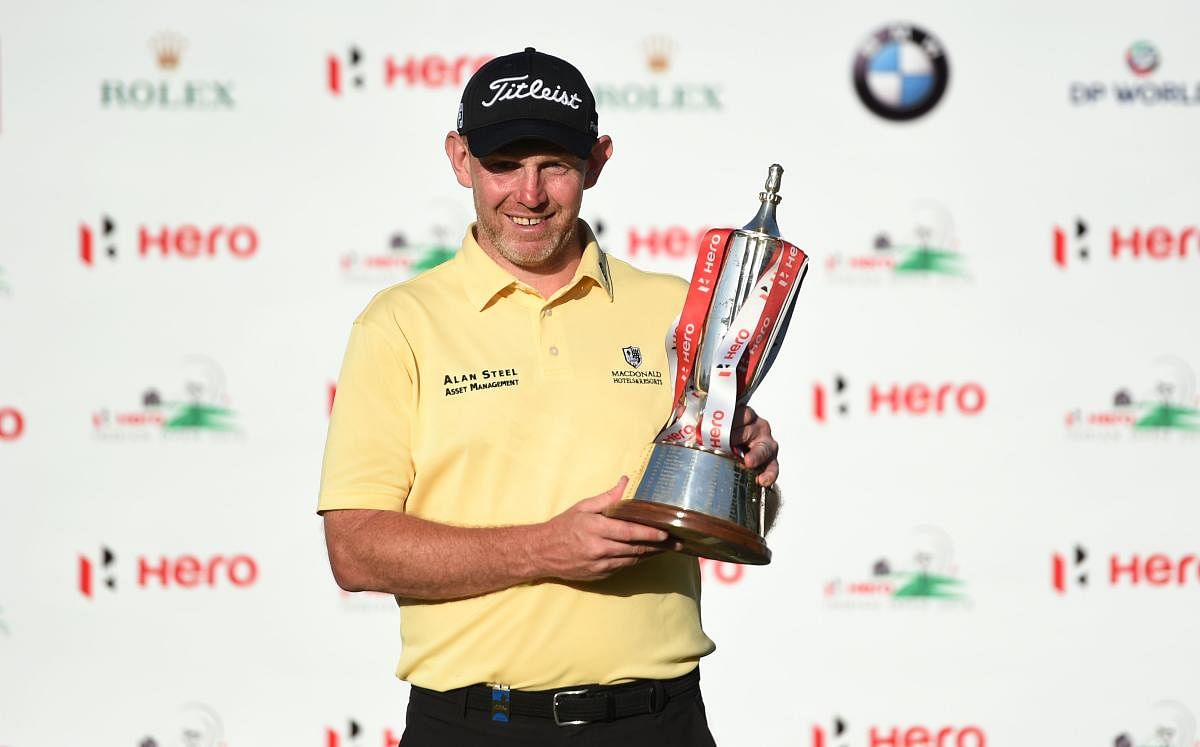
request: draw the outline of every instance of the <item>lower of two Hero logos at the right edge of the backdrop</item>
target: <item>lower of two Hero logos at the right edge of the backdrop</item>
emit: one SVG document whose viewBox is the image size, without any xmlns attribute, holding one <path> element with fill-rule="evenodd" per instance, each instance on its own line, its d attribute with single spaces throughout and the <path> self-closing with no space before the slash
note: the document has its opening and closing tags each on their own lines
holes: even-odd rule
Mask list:
<svg viewBox="0 0 1200 747">
<path fill-rule="evenodd" d="M 1086 588 L 1091 578 L 1087 548 L 1076 544 L 1069 552 L 1055 552 L 1050 563 L 1050 584 L 1060 596 L 1072 588 Z M 1165 552 L 1108 557 L 1108 586 L 1196 586 L 1200 585 L 1200 558 L 1188 554 L 1172 556 Z M 1100 581 L 1103 584 L 1104 581 Z"/>
</svg>

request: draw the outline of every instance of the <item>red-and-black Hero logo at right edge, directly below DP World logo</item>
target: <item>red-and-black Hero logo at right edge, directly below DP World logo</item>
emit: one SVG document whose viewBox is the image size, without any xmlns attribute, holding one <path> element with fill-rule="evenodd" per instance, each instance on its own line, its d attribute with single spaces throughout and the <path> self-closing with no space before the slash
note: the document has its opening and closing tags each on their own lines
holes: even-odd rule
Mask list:
<svg viewBox="0 0 1200 747">
<path fill-rule="evenodd" d="M 1097 256 L 1108 256 L 1114 262 L 1180 261 L 1200 256 L 1200 227 L 1183 226 L 1172 229 L 1166 226 L 1114 226 L 1097 241 L 1087 221 L 1076 217 L 1073 225 L 1055 226 L 1052 249 L 1054 262 L 1061 268 L 1070 262 L 1088 262 Z"/>
</svg>

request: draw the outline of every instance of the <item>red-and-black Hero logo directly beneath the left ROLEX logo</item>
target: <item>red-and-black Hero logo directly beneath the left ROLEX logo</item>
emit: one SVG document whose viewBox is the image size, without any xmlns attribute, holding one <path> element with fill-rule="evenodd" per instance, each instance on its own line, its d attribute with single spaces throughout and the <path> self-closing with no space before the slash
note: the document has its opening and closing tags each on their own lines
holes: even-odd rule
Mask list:
<svg viewBox="0 0 1200 747">
<path fill-rule="evenodd" d="M 79 261 L 91 267 L 101 257 L 115 261 L 118 256 L 116 220 L 102 215 L 96 225 L 79 223 Z M 198 259 L 233 257 L 248 259 L 258 252 L 258 232 L 245 223 L 202 228 L 182 226 L 138 227 L 137 255 L 146 257 L 179 257 Z"/>
</svg>

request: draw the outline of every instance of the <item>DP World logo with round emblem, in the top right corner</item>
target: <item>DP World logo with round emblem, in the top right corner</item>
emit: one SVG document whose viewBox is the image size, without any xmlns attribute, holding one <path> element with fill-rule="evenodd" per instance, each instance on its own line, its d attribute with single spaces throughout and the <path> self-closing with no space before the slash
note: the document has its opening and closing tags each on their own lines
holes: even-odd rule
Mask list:
<svg viewBox="0 0 1200 747">
<path fill-rule="evenodd" d="M 1165 55 L 1153 43 L 1139 40 L 1126 48 L 1122 60 L 1133 73 L 1123 80 L 1073 80 L 1068 88 L 1072 106 L 1091 107 L 1112 103 L 1120 107 L 1150 108 L 1190 107 L 1200 104 L 1200 80 L 1156 80 L 1154 73 L 1165 70 Z M 1116 65 L 1115 55 L 1112 59 Z"/>
</svg>

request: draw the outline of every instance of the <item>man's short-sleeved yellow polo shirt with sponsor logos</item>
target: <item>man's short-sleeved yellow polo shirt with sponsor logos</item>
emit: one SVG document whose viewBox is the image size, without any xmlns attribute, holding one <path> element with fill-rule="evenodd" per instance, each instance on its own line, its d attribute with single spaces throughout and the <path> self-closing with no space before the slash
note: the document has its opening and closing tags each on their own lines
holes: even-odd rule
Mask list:
<svg viewBox="0 0 1200 747">
<path fill-rule="evenodd" d="M 686 283 L 608 257 L 582 226 L 580 268 L 550 299 L 474 226 L 454 259 L 376 295 L 337 382 L 319 510 L 533 524 L 632 474 L 671 407 L 664 340 Z M 676 677 L 714 647 L 696 560 L 676 552 L 602 581 L 397 602 L 396 674 L 438 691 Z"/>
</svg>

